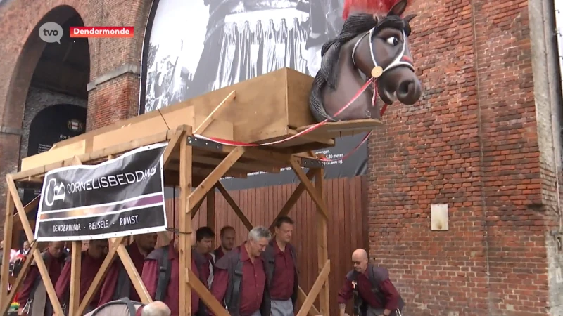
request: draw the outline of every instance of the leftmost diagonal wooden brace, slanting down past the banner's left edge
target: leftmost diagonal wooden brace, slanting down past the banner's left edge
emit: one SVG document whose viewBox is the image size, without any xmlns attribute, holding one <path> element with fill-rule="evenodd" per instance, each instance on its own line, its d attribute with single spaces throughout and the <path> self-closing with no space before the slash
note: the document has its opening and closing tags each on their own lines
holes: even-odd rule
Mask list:
<svg viewBox="0 0 563 316">
<path fill-rule="evenodd" d="M 8 183 L 8 190 L 9 194 L 6 197 L 11 196 L 13 203 L 15 205 L 15 209 L 18 210 L 18 214 L 20 215 L 20 220 L 22 222 L 23 231 L 25 232 L 25 237 L 27 237 L 27 241 L 30 244 L 35 242 L 33 230 L 30 226 L 29 220 L 27 220 L 27 214 L 23 209 L 22 201 L 20 199 L 20 195 L 18 194 L 18 188 L 15 187 L 14 180 L 10 174 L 6 176 L 6 182 Z M 49 277 L 49 271 L 45 265 L 45 261 L 43 261 L 43 257 L 41 256 L 41 251 L 39 249 L 35 249 L 33 251 L 33 257 L 35 258 L 35 262 L 37 263 L 37 269 L 39 269 L 39 274 L 43 279 L 43 284 L 49 295 L 49 299 L 51 300 L 51 305 L 53 306 L 53 311 L 55 315 L 64 315 L 63 308 L 61 307 L 61 303 L 58 301 L 57 294 L 55 292 L 55 287 L 53 286 L 53 282 L 51 282 L 51 277 Z"/>
</svg>

